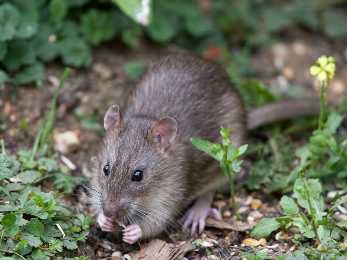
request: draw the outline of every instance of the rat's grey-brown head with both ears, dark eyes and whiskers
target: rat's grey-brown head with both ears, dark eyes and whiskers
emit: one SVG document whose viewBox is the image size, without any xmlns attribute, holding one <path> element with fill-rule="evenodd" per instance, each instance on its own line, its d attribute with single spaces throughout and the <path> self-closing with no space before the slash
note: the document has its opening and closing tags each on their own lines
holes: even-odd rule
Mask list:
<svg viewBox="0 0 347 260">
<path fill-rule="evenodd" d="M 168 147 L 176 136 L 176 121 L 123 118 L 113 105 L 104 127 L 107 138 L 93 180 L 103 214 L 126 225 L 143 225 L 144 231 L 162 228 L 182 193 L 175 185 L 180 180 Z"/>
</svg>

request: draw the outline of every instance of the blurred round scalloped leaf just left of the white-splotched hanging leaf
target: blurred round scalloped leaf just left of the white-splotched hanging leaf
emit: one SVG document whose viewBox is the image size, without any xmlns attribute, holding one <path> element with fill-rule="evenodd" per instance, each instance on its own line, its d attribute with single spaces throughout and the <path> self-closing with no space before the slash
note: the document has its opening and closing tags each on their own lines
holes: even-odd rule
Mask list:
<svg viewBox="0 0 347 260">
<path fill-rule="evenodd" d="M 82 33 L 92 45 L 111 40 L 116 34 L 110 12 L 91 8 L 82 15 L 81 23 Z"/>
</svg>

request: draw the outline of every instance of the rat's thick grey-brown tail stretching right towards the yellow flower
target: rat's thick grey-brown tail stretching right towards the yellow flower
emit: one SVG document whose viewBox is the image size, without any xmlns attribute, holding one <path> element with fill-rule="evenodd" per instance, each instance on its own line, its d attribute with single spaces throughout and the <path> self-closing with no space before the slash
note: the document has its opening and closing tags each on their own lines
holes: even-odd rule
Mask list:
<svg viewBox="0 0 347 260">
<path fill-rule="evenodd" d="M 319 115 L 318 99 L 299 99 L 255 107 L 247 113 L 247 129 L 303 115 Z"/>
</svg>

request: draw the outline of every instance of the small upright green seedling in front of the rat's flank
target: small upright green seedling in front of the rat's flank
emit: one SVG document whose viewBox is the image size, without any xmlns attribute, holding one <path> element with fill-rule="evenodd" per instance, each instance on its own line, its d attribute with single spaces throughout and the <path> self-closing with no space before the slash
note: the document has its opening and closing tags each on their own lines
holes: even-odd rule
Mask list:
<svg viewBox="0 0 347 260">
<path fill-rule="evenodd" d="M 222 145 L 212 144 L 212 142 L 210 141 L 204 141 L 194 138 L 191 138 L 191 142 L 196 148 L 204 151 L 205 153 L 208 153 L 214 159 L 220 162 L 220 168 L 222 169 L 223 173 L 229 177 L 232 208 L 234 209 L 236 218 L 241 220 L 242 217 L 239 214 L 235 203 L 234 181 L 232 177 L 234 175 L 234 172 L 239 172 L 241 170 L 240 164 L 243 162 L 243 160 L 237 160 L 237 157 L 242 155 L 246 151 L 248 145 L 240 146 L 237 150 L 234 150 L 232 148 L 232 142 L 228 139 L 230 125 L 226 130 L 222 126 L 220 128 L 220 133 L 223 137 Z"/>
</svg>

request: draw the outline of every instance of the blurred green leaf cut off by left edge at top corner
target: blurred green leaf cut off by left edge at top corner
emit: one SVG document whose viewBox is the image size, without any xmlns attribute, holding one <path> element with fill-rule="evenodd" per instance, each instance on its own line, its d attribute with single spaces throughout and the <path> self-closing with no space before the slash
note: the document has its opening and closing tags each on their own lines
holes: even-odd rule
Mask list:
<svg viewBox="0 0 347 260">
<path fill-rule="evenodd" d="M 20 21 L 18 9 L 10 3 L 0 5 L 0 41 L 11 40 Z"/>
</svg>

